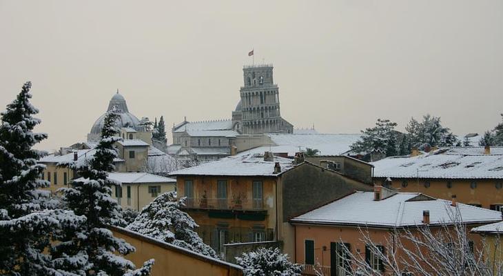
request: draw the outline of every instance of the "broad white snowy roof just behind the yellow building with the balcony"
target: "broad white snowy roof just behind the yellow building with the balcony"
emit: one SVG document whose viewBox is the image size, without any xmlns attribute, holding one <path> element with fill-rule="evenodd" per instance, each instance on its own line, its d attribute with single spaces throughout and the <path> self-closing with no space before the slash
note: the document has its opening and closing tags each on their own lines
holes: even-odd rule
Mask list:
<svg viewBox="0 0 503 276">
<path fill-rule="evenodd" d="M 240 152 L 240 155 L 260 153 L 265 151 L 286 152 L 294 156 L 296 152 L 305 151 L 306 148 L 317 149 L 320 155 L 342 155 L 350 150 L 349 146 L 360 139 L 360 134 L 295 134 L 278 133 L 268 134 L 271 146 L 260 146 Z"/>
</svg>

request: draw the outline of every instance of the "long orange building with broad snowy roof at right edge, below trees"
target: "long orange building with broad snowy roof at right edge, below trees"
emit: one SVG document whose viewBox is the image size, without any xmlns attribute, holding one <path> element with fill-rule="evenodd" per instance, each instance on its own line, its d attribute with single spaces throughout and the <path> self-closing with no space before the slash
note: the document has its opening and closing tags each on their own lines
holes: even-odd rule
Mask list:
<svg viewBox="0 0 503 276">
<path fill-rule="evenodd" d="M 373 164 L 376 184 L 501 210 L 503 147 L 440 148 L 422 155 L 388 157 Z"/>
</svg>

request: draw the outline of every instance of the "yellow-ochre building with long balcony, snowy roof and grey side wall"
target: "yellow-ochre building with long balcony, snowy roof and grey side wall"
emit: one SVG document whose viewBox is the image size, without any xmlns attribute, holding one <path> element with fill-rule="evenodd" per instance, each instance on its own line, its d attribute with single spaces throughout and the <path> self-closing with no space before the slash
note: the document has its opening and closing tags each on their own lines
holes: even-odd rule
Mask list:
<svg viewBox="0 0 503 276">
<path fill-rule="evenodd" d="M 371 190 L 369 184 L 302 157 L 270 152 L 226 157 L 170 175 L 176 176 L 178 196 L 187 197 L 187 213 L 199 224 L 198 234 L 232 262 L 232 244 L 237 243 L 276 241 L 293 255 L 291 217 L 355 189 Z"/>
</svg>

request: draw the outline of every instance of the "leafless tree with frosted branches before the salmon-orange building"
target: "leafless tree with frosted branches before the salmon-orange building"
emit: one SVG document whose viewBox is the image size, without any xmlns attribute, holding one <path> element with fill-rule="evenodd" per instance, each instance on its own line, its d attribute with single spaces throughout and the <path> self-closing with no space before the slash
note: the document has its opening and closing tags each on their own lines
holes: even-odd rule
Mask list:
<svg viewBox="0 0 503 276">
<path fill-rule="evenodd" d="M 374 242 L 368 228 L 360 228 L 360 242 L 369 254 L 355 255 L 345 247 L 338 257 L 351 259 L 352 265 L 344 268 L 346 275 L 381 275 L 384 271 L 386 275 L 403 276 L 503 275 L 501 263 L 489 264 L 484 260 L 485 239 L 476 248 L 469 240 L 459 209 L 455 210 L 449 211 L 449 221 L 439 226 L 395 228 L 384 244 Z"/>
</svg>

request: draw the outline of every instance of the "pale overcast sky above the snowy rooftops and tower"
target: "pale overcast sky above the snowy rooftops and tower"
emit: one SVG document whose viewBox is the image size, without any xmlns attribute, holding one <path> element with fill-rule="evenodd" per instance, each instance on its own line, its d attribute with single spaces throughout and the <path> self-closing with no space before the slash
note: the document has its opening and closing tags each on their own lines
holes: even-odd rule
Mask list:
<svg viewBox="0 0 503 276">
<path fill-rule="evenodd" d="M 296 128 L 355 133 L 431 113 L 457 134 L 503 112 L 503 1 L 3 1 L 0 109 L 26 80 L 52 150 L 119 88 L 167 127 L 231 117 L 242 66 L 274 63 Z M 170 139 L 171 140 L 171 139 Z"/>
</svg>

